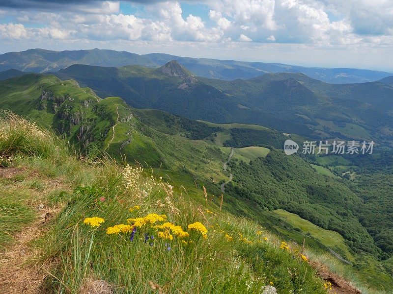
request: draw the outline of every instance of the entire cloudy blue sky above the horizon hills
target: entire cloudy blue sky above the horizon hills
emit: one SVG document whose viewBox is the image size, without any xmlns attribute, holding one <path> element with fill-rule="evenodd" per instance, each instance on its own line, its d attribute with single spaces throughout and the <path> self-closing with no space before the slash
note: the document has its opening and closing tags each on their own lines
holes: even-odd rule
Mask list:
<svg viewBox="0 0 393 294">
<path fill-rule="evenodd" d="M 31 48 L 393 73 L 393 0 L 0 0 L 0 53 Z"/>
</svg>

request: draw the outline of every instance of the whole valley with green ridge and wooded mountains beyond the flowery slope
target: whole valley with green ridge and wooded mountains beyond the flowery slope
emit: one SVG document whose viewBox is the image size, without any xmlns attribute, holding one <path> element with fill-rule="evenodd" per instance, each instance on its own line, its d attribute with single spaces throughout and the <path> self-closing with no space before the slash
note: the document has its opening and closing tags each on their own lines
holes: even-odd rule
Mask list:
<svg viewBox="0 0 393 294">
<path fill-rule="evenodd" d="M 387 110 L 393 88 L 368 85 L 385 103 L 367 104 L 376 115 L 371 118 L 362 116 L 366 102 L 351 104 L 365 99 L 364 87 L 289 73 L 226 82 L 197 77 L 176 62 L 165 70 L 75 65 L 56 75 L 1 81 L 0 108 L 55 132 L 79 156 L 150 169 L 190 201 L 203 202 L 205 187 L 215 207 L 288 242 L 305 240 L 315 252 L 310 256 L 325 256 L 332 269 L 370 291 L 364 293 L 376 293 L 393 289 L 392 221 L 385 217 L 392 213 L 386 208 L 391 189 L 384 185 L 380 195 L 381 186 L 365 178 L 372 168 L 374 181 L 392 183 Z M 349 98 L 329 96 L 338 91 Z M 299 144 L 374 139 L 376 153 L 384 155 L 374 156 L 378 166 L 361 155 L 287 156 L 288 138 Z"/>
</svg>

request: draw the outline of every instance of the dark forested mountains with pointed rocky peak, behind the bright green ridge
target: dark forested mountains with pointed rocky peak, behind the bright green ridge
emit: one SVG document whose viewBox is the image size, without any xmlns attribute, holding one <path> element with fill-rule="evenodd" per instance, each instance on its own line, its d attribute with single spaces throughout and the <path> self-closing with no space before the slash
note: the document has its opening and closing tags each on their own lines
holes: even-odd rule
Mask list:
<svg viewBox="0 0 393 294">
<path fill-rule="evenodd" d="M 327 139 L 393 141 L 393 88 L 381 82 L 328 84 L 303 73 L 269 73 L 224 81 L 169 76 L 162 68 L 73 65 L 56 73 L 119 96 L 136 108 L 154 108 L 214 123 L 253 123 Z"/>
</svg>

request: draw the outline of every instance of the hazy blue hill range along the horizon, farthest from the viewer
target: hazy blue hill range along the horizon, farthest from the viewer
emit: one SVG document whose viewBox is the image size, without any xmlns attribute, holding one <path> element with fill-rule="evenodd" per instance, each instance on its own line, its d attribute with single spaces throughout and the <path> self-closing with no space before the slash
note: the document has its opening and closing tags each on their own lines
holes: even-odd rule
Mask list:
<svg viewBox="0 0 393 294">
<path fill-rule="evenodd" d="M 51 51 L 29 49 L 0 55 L 0 71 L 17 69 L 26 72 L 46 73 L 58 71 L 73 64 L 105 67 L 141 65 L 158 68 L 171 60 L 176 60 L 197 76 L 223 80 L 249 79 L 264 73 L 305 73 L 328 83 L 362 83 L 380 80 L 392 73 L 346 69 L 309 68 L 280 63 L 244 62 L 208 58 L 179 57 L 175 55 L 151 53 L 138 55 L 127 51 L 103 49 Z"/>
</svg>

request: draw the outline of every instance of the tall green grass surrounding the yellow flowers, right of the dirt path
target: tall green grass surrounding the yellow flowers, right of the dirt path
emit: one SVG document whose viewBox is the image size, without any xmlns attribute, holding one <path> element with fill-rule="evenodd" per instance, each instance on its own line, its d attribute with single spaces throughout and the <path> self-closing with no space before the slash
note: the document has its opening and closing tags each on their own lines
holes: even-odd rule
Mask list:
<svg viewBox="0 0 393 294">
<path fill-rule="evenodd" d="M 261 228 L 255 223 L 186 203 L 149 174 L 140 173 L 130 189 L 120 166 L 107 162 L 97 168 L 100 173 L 91 186 L 68 195 L 47 236 L 48 257 L 61 256 L 53 271 L 56 278 L 48 280 L 53 291 L 77 293 L 93 277 L 107 281 L 115 293 L 149 293 L 149 282 L 164 293 L 258 293 L 270 284 L 279 293 L 325 293 L 314 270 L 294 253 L 279 248 L 280 241 L 270 234 L 257 235 Z M 141 196 L 149 187 L 148 195 Z M 140 209 L 130 212 L 135 205 Z M 185 230 L 200 221 L 208 228 L 208 238 L 190 233 L 187 244 L 176 238 L 163 240 L 152 226 L 138 228 L 133 241 L 129 233 L 106 234 L 112 225 L 149 213 L 165 214 Z M 105 223 L 93 229 L 82 223 L 93 216 L 104 218 Z M 225 234 L 233 240 L 228 241 Z M 240 240 L 239 234 L 250 244 Z M 269 240 L 263 240 L 264 236 Z"/>
</svg>

